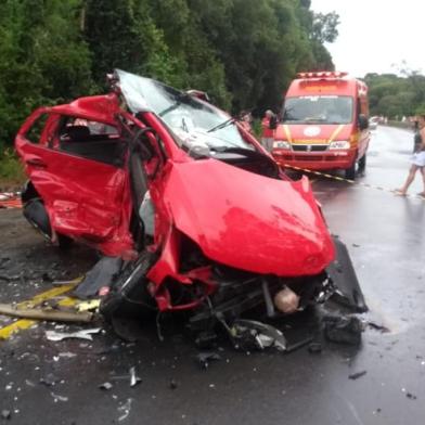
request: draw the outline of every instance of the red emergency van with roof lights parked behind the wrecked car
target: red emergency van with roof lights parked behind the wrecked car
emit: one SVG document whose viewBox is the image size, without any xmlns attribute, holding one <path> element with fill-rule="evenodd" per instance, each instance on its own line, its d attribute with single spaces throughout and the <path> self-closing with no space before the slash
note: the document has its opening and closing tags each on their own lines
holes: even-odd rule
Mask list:
<svg viewBox="0 0 425 425">
<path fill-rule="evenodd" d="M 368 87 L 347 73 L 299 73 L 291 83 L 273 142 L 283 167 L 363 171 L 370 141 Z"/>
</svg>

